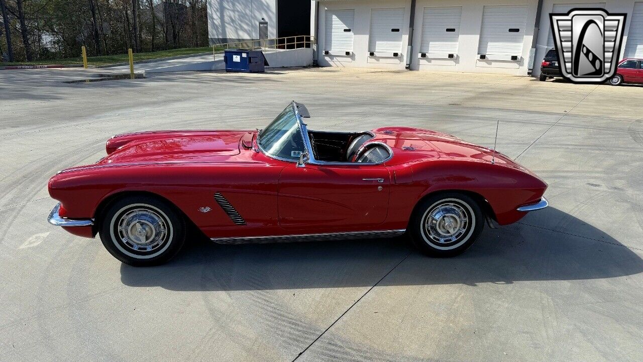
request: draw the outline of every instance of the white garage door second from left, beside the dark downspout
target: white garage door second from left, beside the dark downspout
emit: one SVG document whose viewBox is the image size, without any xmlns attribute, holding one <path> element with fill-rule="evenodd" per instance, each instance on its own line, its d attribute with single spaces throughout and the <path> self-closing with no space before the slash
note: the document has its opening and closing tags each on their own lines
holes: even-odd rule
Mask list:
<svg viewBox="0 0 643 362">
<path fill-rule="evenodd" d="M 403 24 L 404 8 L 371 10 L 368 52 L 400 53 Z"/>
</svg>

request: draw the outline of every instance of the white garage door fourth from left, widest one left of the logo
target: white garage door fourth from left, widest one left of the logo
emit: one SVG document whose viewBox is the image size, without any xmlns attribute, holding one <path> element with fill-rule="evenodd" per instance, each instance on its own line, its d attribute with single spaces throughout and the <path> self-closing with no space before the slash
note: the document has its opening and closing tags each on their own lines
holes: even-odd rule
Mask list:
<svg viewBox="0 0 643 362">
<path fill-rule="evenodd" d="M 478 54 L 520 55 L 526 24 L 527 5 L 485 5 Z"/>
</svg>

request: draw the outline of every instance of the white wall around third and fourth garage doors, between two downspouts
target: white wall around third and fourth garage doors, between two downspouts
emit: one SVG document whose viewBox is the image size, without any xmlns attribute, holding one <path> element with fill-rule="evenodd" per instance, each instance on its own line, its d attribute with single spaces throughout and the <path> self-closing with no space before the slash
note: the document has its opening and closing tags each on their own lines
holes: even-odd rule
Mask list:
<svg viewBox="0 0 643 362">
<path fill-rule="evenodd" d="M 480 41 L 482 14 L 485 5 L 527 5 L 527 21 L 525 22 L 522 53 L 519 61 L 478 59 L 478 43 Z M 422 37 L 424 7 L 426 6 L 462 6 L 457 59 L 421 59 L 418 57 Z M 412 70 L 527 75 L 537 10 L 538 1 L 536 0 L 417 0 L 415 28 L 413 29 L 412 64 L 410 68 Z"/>
</svg>

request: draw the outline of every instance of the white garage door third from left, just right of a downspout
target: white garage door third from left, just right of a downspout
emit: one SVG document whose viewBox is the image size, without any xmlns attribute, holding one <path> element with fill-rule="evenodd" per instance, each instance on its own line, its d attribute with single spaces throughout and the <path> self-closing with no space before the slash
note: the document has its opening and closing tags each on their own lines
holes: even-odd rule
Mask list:
<svg viewBox="0 0 643 362">
<path fill-rule="evenodd" d="M 421 53 L 457 53 L 462 6 L 424 8 Z"/>
</svg>

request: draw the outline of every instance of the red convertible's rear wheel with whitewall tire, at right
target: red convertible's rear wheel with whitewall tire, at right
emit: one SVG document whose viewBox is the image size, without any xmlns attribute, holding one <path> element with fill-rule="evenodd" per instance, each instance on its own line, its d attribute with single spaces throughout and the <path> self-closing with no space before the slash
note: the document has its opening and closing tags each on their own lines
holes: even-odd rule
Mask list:
<svg viewBox="0 0 643 362">
<path fill-rule="evenodd" d="M 417 205 L 409 234 L 424 254 L 444 258 L 469 249 L 483 227 L 484 216 L 473 198 L 462 193 L 440 193 Z"/>
</svg>

